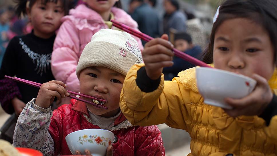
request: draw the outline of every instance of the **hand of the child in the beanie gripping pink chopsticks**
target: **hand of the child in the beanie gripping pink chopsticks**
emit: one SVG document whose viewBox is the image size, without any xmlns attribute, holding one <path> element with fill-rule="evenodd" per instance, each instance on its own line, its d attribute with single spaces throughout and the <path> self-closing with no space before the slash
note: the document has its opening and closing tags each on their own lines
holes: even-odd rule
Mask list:
<svg viewBox="0 0 277 156">
<path fill-rule="evenodd" d="M 37 99 L 35 104 L 41 108 L 49 108 L 50 104 L 54 101 L 54 98 L 57 97 L 59 100 L 69 96 L 68 91 L 65 89 L 66 84 L 62 81 L 49 81 L 43 83 L 37 94 Z"/>
</svg>

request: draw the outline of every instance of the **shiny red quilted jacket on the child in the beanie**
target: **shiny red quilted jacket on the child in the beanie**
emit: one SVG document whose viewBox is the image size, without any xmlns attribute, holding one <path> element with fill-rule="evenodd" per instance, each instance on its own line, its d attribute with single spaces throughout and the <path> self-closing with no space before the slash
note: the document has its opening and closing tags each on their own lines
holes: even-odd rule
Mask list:
<svg viewBox="0 0 277 156">
<path fill-rule="evenodd" d="M 62 105 L 54 110 L 49 127 L 55 143 L 54 155 L 70 155 L 66 135 L 89 128 L 100 129 L 99 126 L 92 124 L 85 103 L 72 99 L 71 104 Z M 117 138 L 112 145 L 114 156 L 165 155 L 161 131 L 157 126 L 132 126 L 125 116 L 120 114 L 114 121 L 114 127 L 109 130 Z"/>
</svg>

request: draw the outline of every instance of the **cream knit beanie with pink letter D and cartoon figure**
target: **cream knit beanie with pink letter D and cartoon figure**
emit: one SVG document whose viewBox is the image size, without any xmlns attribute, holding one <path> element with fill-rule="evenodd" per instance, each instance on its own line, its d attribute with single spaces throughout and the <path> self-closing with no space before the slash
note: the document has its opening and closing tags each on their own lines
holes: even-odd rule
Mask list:
<svg viewBox="0 0 277 156">
<path fill-rule="evenodd" d="M 87 67 L 107 67 L 124 76 L 134 64 L 142 63 L 138 43 L 127 32 L 101 29 L 85 46 L 76 74 Z"/>
</svg>

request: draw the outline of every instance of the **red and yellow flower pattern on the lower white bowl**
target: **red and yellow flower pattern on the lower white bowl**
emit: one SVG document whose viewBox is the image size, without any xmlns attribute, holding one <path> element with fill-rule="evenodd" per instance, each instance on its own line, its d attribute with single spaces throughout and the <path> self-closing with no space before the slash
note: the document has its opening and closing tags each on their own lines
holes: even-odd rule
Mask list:
<svg viewBox="0 0 277 156">
<path fill-rule="evenodd" d="M 100 136 L 97 136 L 97 135 L 88 136 L 86 134 L 84 134 L 82 137 L 79 136 L 78 142 L 82 145 L 83 145 L 83 143 L 87 143 L 87 142 L 92 143 L 92 144 L 95 142 L 96 144 L 102 145 L 104 147 L 106 147 L 107 143 L 108 143 L 109 146 L 112 144 L 110 138 L 105 138 L 104 136 L 100 137 Z"/>
</svg>

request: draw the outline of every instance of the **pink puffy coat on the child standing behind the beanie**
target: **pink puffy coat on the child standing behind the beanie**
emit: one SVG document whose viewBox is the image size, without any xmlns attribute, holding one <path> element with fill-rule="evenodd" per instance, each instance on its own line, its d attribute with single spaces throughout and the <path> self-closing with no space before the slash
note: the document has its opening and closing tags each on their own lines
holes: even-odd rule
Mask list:
<svg viewBox="0 0 277 156">
<path fill-rule="evenodd" d="M 137 28 L 138 24 L 122 9 L 112 8 L 114 20 L 126 24 L 131 28 Z M 71 9 L 69 15 L 62 18 L 61 25 L 56 36 L 51 68 L 55 79 L 67 84 L 70 91 L 79 92 L 79 80 L 76 76 L 76 67 L 82 51 L 86 44 L 90 42 L 93 34 L 100 29 L 108 28 L 104 24 L 102 17 L 86 5 L 78 5 Z M 113 29 L 114 27 L 112 27 Z M 134 36 L 133 36 L 134 37 Z M 142 51 L 143 45 L 141 40 L 134 37 Z"/>
</svg>

